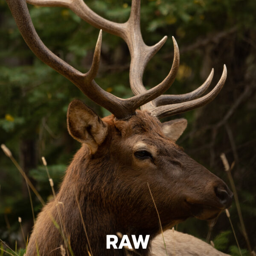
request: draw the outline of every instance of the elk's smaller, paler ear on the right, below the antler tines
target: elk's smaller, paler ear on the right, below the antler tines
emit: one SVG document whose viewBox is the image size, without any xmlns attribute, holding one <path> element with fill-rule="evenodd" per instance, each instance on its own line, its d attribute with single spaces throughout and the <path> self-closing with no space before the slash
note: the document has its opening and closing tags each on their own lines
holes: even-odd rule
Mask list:
<svg viewBox="0 0 256 256">
<path fill-rule="evenodd" d="M 171 140 L 176 140 L 183 134 L 187 127 L 187 120 L 184 118 L 175 119 L 169 122 L 162 123 L 163 134 Z"/>
</svg>

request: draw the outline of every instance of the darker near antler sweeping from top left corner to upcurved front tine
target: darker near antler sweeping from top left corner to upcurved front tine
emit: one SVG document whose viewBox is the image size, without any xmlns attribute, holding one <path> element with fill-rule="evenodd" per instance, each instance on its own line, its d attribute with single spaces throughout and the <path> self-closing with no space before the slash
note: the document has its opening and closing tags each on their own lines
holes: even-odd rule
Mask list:
<svg viewBox="0 0 256 256">
<path fill-rule="evenodd" d="M 44 45 L 35 31 L 26 5 L 26 0 L 6 0 L 6 2 L 11 9 L 12 15 L 15 17 L 15 21 L 21 35 L 32 52 L 34 52 L 41 61 L 72 81 L 73 84 L 75 84 L 90 99 L 113 113 L 116 118 L 121 119 L 132 115 L 138 107 L 155 99 L 165 92 L 168 89 L 169 82 L 173 81 L 175 78 L 175 73 L 179 64 L 177 44 L 175 45 L 175 58 L 172 65 L 172 70 L 175 72 L 169 75 L 162 83 L 143 94 L 136 95 L 130 99 L 120 99 L 111 93 L 102 90 L 102 88 L 93 80 L 99 68 L 102 32 L 99 33 L 93 57 L 93 65 L 86 74 L 83 74 L 67 64 L 65 61 L 61 60 L 61 58 L 58 58 L 58 56 Z M 54 3 L 56 2 L 58 1 L 55 0 Z"/>
</svg>

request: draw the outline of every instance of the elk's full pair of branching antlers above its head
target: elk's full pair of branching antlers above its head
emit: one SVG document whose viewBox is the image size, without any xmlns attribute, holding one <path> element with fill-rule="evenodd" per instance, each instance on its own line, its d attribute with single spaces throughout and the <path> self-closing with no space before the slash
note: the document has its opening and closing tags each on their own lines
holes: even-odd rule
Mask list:
<svg viewBox="0 0 256 256">
<path fill-rule="evenodd" d="M 99 68 L 100 48 L 102 41 L 101 32 L 96 44 L 93 64 L 90 70 L 83 74 L 67 64 L 65 61 L 58 58 L 58 56 L 53 54 L 43 44 L 32 24 L 29 11 L 26 6 L 26 0 L 6 0 L 6 2 L 11 9 L 12 15 L 15 17 L 15 21 L 24 40 L 35 55 L 37 55 L 41 61 L 44 61 L 47 65 L 55 69 L 58 73 L 61 73 L 67 79 L 72 81 L 85 95 L 113 113 L 116 118 L 120 119 L 130 116 L 140 106 L 141 108 L 147 108 L 153 115 L 159 118 L 174 113 L 184 112 L 204 105 L 212 100 L 218 94 L 219 90 L 224 84 L 225 74 L 222 80 L 220 80 L 222 83 L 218 83 L 212 93 L 208 93 L 206 96 L 195 100 L 195 98 L 204 93 L 209 86 L 212 80 L 212 72 L 207 81 L 192 93 L 179 96 L 161 96 L 161 94 L 168 90 L 168 88 L 172 85 L 179 66 L 179 49 L 175 39 L 172 38 L 174 44 L 174 60 L 172 68 L 169 74 L 160 84 L 151 88 L 150 90 L 146 90 L 142 81 L 143 72 L 148 61 L 163 46 L 167 37 L 164 37 L 161 41 L 151 47 L 144 43 L 140 31 L 140 0 L 132 1 L 131 14 L 128 21 L 125 23 L 116 23 L 100 17 L 93 12 L 83 0 L 27 0 L 27 3 L 37 6 L 63 6 L 70 8 L 79 17 L 91 25 L 117 35 L 125 40 L 131 53 L 130 84 L 135 96 L 129 99 L 120 99 L 111 93 L 102 90 L 102 88 L 99 87 L 99 85 L 94 81 Z M 154 99 L 156 100 L 153 101 Z M 187 101 L 186 104 L 178 103 L 169 105 L 170 103 L 173 104 L 183 102 L 184 100 L 190 101 Z M 178 109 L 180 109 L 180 112 Z"/>
</svg>

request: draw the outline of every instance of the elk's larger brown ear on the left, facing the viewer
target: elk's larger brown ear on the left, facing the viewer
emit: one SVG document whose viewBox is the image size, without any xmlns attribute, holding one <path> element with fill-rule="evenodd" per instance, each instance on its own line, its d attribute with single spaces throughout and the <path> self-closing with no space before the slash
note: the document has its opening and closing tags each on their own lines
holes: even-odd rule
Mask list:
<svg viewBox="0 0 256 256">
<path fill-rule="evenodd" d="M 91 154 L 97 151 L 108 133 L 108 125 L 91 108 L 77 99 L 68 107 L 67 128 L 74 139 L 88 145 Z"/>
</svg>

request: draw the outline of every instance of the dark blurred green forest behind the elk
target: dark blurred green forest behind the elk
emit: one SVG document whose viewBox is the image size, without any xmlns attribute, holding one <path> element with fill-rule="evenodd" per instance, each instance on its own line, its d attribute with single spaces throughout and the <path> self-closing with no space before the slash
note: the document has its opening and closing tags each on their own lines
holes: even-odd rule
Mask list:
<svg viewBox="0 0 256 256">
<path fill-rule="evenodd" d="M 88 0 L 99 15 L 124 22 L 131 0 Z M 92 61 L 98 29 L 64 8 L 29 5 L 30 14 L 44 44 L 81 72 Z M 180 68 L 169 94 L 194 90 L 215 68 L 213 84 L 227 65 L 227 81 L 216 99 L 203 108 L 175 116 L 185 117 L 188 128 L 179 139 L 187 154 L 230 185 L 220 154 L 230 163 L 239 194 L 250 244 L 256 248 L 256 2 L 255 0 L 142 0 L 141 29 L 148 45 L 164 35 L 169 38 L 146 67 L 147 88 L 158 84 L 172 65 L 175 36 L 180 47 Z M 4 0 L 0 0 L 0 143 L 6 144 L 23 170 L 33 180 L 45 201 L 51 198 L 48 162 L 55 189 L 73 154 L 80 147 L 67 132 L 69 102 L 78 98 L 100 116 L 108 111 L 87 99 L 73 84 L 39 61 L 26 46 Z M 132 96 L 129 87 L 130 55 L 125 42 L 103 32 L 101 64 L 97 83 L 121 98 Z M 169 120 L 172 118 L 168 118 Z M 166 121 L 163 120 L 163 121 Z M 32 227 L 32 212 L 26 183 L 3 152 L 0 152 L 0 239 L 24 248 L 18 217 L 25 236 Z M 41 204 L 34 195 L 34 210 Z M 231 220 L 243 255 L 247 245 L 235 203 Z M 178 230 L 206 239 L 206 221 L 195 218 L 179 224 Z M 213 227 L 215 247 L 239 255 L 227 216 Z M 3 247 L 3 245 L 2 245 Z M 17 250 L 18 251 L 18 250 Z M 23 251 L 20 251 L 20 255 Z M 1 255 L 1 253 L 0 253 Z"/>
</svg>

